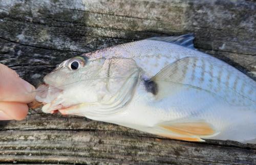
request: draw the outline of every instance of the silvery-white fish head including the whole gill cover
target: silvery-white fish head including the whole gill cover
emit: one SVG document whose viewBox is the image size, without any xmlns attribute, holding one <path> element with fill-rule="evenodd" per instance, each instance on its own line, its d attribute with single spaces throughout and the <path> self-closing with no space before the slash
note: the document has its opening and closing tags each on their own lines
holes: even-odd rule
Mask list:
<svg viewBox="0 0 256 165">
<path fill-rule="evenodd" d="M 37 88 L 46 113 L 104 116 L 131 100 L 139 69 L 131 59 L 74 57 L 60 63 Z"/>
</svg>

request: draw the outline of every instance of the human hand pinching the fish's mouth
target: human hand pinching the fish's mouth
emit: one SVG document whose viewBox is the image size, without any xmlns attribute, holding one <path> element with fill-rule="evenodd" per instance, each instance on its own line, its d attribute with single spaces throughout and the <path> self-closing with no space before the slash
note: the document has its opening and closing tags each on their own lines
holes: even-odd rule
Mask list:
<svg viewBox="0 0 256 165">
<path fill-rule="evenodd" d="M 18 77 L 9 67 L 0 64 L 0 120 L 22 120 L 28 105 L 35 98 L 35 87 Z"/>
</svg>

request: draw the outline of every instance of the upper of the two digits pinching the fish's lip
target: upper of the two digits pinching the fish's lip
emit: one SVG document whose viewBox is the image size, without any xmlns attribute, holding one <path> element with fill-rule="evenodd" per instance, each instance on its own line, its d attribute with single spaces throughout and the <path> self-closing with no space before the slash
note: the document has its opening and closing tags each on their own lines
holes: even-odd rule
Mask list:
<svg viewBox="0 0 256 165">
<path fill-rule="evenodd" d="M 18 77 L 16 72 L 0 64 L 0 101 L 30 103 L 35 98 L 35 87 Z"/>
</svg>

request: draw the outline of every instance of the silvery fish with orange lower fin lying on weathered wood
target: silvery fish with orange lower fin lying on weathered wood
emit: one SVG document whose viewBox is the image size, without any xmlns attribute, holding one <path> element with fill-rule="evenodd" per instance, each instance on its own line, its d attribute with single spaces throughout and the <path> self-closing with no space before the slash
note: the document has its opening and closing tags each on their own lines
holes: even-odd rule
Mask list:
<svg viewBox="0 0 256 165">
<path fill-rule="evenodd" d="M 256 143 L 256 83 L 195 49 L 194 34 L 152 37 L 70 58 L 44 77 L 45 113 L 189 142 Z"/>
</svg>

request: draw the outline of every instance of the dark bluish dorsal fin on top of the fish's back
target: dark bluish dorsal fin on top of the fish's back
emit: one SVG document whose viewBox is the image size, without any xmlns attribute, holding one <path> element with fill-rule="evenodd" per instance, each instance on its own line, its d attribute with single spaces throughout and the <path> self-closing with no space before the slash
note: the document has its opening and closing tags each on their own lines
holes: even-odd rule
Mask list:
<svg viewBox="0 0 256 165">
<path fill-rule="evenodd" d="M 194 44 L 193 44 L 194 38 L 195 38 L 194 34 L 189 33 L 181 36 L 162 36 L 162 37 L 151 37 L 147 39 L 175 43 L 175 44 L 184 46 L 186 48 L 195 50 Z"/>
</svg>

